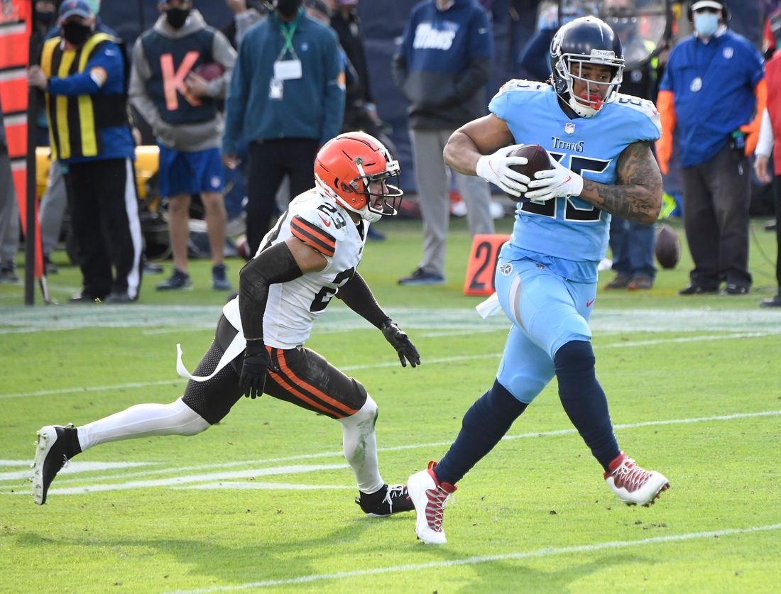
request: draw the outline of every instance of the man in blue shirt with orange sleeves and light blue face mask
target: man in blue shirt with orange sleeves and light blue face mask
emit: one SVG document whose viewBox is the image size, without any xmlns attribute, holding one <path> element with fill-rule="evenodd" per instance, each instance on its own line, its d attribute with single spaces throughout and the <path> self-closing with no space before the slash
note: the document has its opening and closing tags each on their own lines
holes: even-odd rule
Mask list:
<svg viewBox="0 0 781 594">
<path fill-rule="evenodd" d="M 670 52 L 657 107 L 662 137 L 659 169 L 667 173 L 677 126 L 683 177 L 683 226 L 694 259 L 679 295 L 743 295 L 748 272 L 748 162 L 765 108 L 762 56 L 745 37 L 727 29 L 729 9 L 716 0 L 690 5 L 694 35 Z M 756 95 L 756 101 L 754 100 Z M 748 136 L 744 138 L 744 133 Z"/>
</svg>

